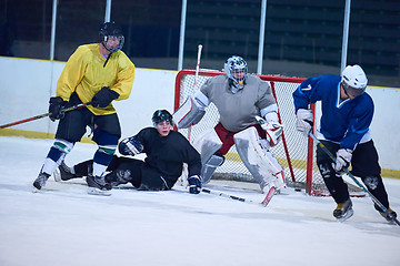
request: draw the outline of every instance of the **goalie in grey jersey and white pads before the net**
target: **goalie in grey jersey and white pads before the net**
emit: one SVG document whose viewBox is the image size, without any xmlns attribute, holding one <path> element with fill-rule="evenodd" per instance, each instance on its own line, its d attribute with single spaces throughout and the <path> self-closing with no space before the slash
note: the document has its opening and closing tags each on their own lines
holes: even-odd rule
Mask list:
<svg viewBox="0 0 400 266">
<path fill-rule="evenodd" d="M 219 123 L 196 137 L 193 146 L 201 154 L 202 183 L 207 184 L 222 165 L 234 144 L 240 158 L 260 184 L 261 191 L 273 195 L 286 187 L 283 171 L 269 147 L 282 134 L 278 123 L 278 106 L 271 86 L 260 78 L 248 74 L 247 62 L 233 55 L 224 63 L 224 75 L 207 80 L 173 114 L 178 129 L 197 124 L 212 102 L 220 114 Z M 266 123 L 261 126 L 256 116 Z"/>
</svg>

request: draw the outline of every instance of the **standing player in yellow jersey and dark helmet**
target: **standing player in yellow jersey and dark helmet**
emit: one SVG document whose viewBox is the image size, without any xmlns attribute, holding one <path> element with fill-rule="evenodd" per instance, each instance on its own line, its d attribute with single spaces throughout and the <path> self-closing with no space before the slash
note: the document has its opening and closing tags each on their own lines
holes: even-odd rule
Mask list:
<svg viewBox="0 0 400 266">
<path fill-rule="evenodd" d="M 81 140 L 86 127 L 90 126 L 98 150 L 91 165 L 92 175 L 87 178 L 88 193 L 111 194 L 111 186 L 106 184 L 103 173 L 121 136 L 112 101 L 129 98 L 134 79 L 134 64 L 121 51 L 124 37 L 114 22 L 101 24 L 99 35 L 100 43 L 80 45 L 69 58 L 57 83 L 57 95 L 50 98 L 50 119 L 60 122 L 56 141 L 33 182 L 36 191 L 46 185 L 74 143 Z M 90 102 L 91 106 L 61 112 L 63 108 L 87 102 Z"/>
</svg>

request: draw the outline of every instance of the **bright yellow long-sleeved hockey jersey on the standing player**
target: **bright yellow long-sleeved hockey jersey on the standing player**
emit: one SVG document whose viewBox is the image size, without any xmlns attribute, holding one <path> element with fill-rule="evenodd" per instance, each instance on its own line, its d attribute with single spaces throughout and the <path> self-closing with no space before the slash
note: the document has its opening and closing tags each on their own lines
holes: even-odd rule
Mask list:
<svg viewBox="0 0 400 266">
<path fill-rule="evenodd" d="M 122 51 L 117 51 L 104 66 L 106 59 L 101 55 L 99 45 L 80 45 L 69 58 L 57 82 L 57 96 L 68 101 L 76 91 L 79 99 L 86 103 L 90 102 L 101 88 L 109 86 L 119 94 L 117 101 L 129 98 L 134 80 L 134 64 Z M 116 113 L 112 103 L 107 108 L 88 105 L 88 109 L 96 115 Z"/>
</svg>

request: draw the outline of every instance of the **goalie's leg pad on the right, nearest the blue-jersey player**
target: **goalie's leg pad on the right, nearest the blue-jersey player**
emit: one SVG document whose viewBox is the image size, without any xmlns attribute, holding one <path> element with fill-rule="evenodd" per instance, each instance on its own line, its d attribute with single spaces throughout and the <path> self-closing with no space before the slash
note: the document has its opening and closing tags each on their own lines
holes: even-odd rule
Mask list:
<svg viewBox="0 0 400 266">
<path fill-rule="evenodd" d="M 261 191 L 271 184 L 277 191 L 286 187 L 282 167 L 273 154 L 260 143 L 256 127 L 251 126 L 234 134 L 233 140 L 240 158 L 260 184 Z"/>
</svg>

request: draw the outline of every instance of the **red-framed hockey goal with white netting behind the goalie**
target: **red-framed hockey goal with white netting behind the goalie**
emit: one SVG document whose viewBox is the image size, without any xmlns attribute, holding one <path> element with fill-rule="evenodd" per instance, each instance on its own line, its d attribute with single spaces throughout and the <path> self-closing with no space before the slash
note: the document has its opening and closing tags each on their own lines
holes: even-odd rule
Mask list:
<svg viewBox="0 0 400 266">
<path fill-rule="evenodd" d="M 224 72 L 200 70 L 198 76 L 194 78 L 194 70 L 180 71 L 176 79 L 174 111 L 178 110 L 189 95 L 192 95 L 199 90 L 208 79 L 220 74 L 224 74 Z M 284 171 L 287 185 L 289 187 L 306 190 L 306 193 L 310 195 L 329 195 L 322 176 L 314 163 L 316 145 L 312 139 L 303 137 L 301 133 L 296 130 L 292 92 L 304 79 L 274 75 L 258 76 L 271 84 L 279 108 L 279 119 L 283 124 L 282 141 L 272 147 L 271 151 Z M 312 105 L 311 109 L 314 109 L 314 106 Z M 206 109 L 206 115 L 198 124 L 190 129 L 179 131 L 186 135 L 190 142 L 193 142 L 197 135 L 207 129 L 213 127 L 218 121 L 218 110 L 213 103 L 211 103 Z M 252 182 L 252 176 L 241 162 L 234 145 L 230 149 L 226 155 L 224 163 L 217 168 L 212 178 Z"/>
</svg>

